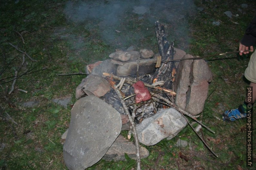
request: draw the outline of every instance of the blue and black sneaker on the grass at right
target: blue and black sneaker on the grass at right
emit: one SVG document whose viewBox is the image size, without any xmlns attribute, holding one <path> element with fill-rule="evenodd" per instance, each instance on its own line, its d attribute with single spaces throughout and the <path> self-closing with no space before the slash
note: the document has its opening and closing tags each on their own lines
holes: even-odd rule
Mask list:
<svg viewBox="0 0 256 170">
<path fill-rule="evenodd" d="M 244 112 L 242 105 L 237 109 L 227 110 L 222 114 L 223 121 L 235 121 L 237 119 L 245 118 L 247 114 Z"/>
</svg>

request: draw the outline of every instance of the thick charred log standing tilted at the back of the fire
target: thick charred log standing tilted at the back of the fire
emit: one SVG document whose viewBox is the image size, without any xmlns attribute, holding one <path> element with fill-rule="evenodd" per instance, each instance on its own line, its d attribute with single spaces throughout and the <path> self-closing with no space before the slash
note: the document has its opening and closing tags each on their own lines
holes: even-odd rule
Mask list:
<svg viewBox="0 0 256 170">
<path fill-rule="evenodd" d="M 156 32 L 156 39 L 158 44 L 158 49 L 160 52 L 161 57 L 158 57 L 158 63 L 153 81 L 164 81 L 163 87 L 170 89 L 172 86 L 172 82 L 175 80 L 176 74 L 176 67 L 173 62 L 162 63 L 163 61 L 173 60 L 174 49 L 173 49 L 173 42 L 169 45 L 164 31 L 164 26 L 159 23 L 159 21 L 155 22 L 155 32 Z M 161 59 L 161 64 L 160 64 Z"/>
</svg>

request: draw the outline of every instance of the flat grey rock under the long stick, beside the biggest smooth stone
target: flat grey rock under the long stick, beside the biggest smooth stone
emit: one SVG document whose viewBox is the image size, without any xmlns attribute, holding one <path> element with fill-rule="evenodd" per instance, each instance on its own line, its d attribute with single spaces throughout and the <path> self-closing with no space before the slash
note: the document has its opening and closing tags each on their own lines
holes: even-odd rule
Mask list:
<svg viewBox="0 0 256 170">
<path fill-rule="evenodd" d="M 112 146 L 108 149 L 103 159 L 107 161 L 124 161 L 126 160 L 124 153 L 126 153 L 132 159 L 137 159 L 136 148 L 133 142 L 130 142 L 122 135 L 119 135 Z M 149 151 L 144 147 L 140 147 L 140 156 L 142 159 L 148 157 Z"/>
</svg>

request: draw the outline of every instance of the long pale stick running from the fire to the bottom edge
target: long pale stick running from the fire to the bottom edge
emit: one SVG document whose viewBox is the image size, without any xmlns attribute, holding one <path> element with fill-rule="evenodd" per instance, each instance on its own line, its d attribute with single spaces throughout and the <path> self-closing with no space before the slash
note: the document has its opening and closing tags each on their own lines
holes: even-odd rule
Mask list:
<svg viewBox="0 0 256 170">
<path fill-rule="evenodd" d="M 141 157 L 140 157 L 140 145 L 139 145 L 139 139 L 138 139 L 138 134 L 137 134 L 137 131 L 136 131 L 136 127 L 135 127 L 135 123 L 133 121 L 133 118 L 123 100 L 123 97 L 122 97 L 122 94 L 120 93 L 120 91 L 117 89 L 117 88 L 114 88 L 117 96 L 119 97 L 122 105 L 123 105 L 123 109 L 125 111 L 125 113 L 128 115 L 128 118 L 129 118 L 129 121 L 130 121 L 130 124 L 131 124 L 131 127 L 132 127 L 132 130 L 133 130 L 133 137 L 135 139 L 135 146 L 136 146 L 136 156 L 137 156 L 137 170 L 141 170 Z"/>
</svg>

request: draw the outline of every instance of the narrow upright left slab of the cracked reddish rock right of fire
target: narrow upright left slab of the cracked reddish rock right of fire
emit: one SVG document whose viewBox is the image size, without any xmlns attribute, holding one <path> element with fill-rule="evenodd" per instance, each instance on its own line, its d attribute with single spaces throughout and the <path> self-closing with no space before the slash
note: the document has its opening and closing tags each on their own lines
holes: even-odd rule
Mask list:
<svg viewBox="0 0 256 170">
<path fill-rule="evenodd" d="M 193 58 L 193 56 L 186 54 L 183 58 Z M 175 104 L 181 109 L 185 109 L 186 107 L 186 95 L 191 85 L 190 70 L 192 62 L 193 60 L 183 60 L 180 62 L 173 83 L 173 90 L 176 91 Z"/>
</svg>

